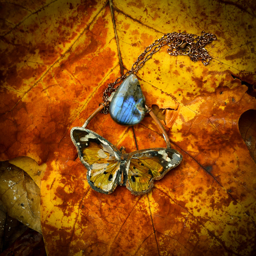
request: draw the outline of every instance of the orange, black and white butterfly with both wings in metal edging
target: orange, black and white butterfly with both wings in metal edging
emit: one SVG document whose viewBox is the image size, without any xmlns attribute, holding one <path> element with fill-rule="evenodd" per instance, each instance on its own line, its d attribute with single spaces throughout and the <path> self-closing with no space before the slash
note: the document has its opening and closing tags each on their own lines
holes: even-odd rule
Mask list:
<svg viewBox="0 0 256 256">
<path fill-rule="evenodd" d="M 163 178 L 182 160 L 182 155 L 171 148 L 124 153 L 99 134 L 83 127 L 73 127 L 71 139 L 87 168 L 89 185 L 104 194 L 112 193 L 117 185 L 126 186 L 134 195 L 145 194 L 152 189 L 155 180 Z"/>
</svg>

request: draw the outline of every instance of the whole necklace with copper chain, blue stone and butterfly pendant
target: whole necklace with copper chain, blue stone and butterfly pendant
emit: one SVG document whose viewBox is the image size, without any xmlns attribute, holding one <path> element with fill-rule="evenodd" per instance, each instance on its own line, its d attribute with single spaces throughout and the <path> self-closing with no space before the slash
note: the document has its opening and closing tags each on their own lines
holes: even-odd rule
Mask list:
<svg viewBox="0 0 256 256">
<path fill-rule="evenodd" d="M 185 32 L 165 34 L 145 48 L 129 71 L 108 84 L 99 107 L 82 127 L 71 129 L 72 142 L 81 162 L 87 168 L 87 180 L 92 189 L 110 194 L 117 185 L 125 185 L 134 195 L 145 194 L 152 189 L 155 180 L 163 178 L 168 171 L 180 164 L 182 155 L 171 148 L 161 122 L 145 104 L 145 97 L 135 74 L 164 45 L 169 46 L 167 52 L 170 55 L 188 55 L 192 61 L 201 60 L 206 66 L 211 56 L 204 46 L 216 39 L 214 34 L 205 32 L 201 36 Z M 120 82 L 119 86 L 114 87 Z M 127 126 L 139 124 L 148 112 L 160 129 L 166 148 L 149 148 L 131 153 L 126 153 L 123 147 L 118 150 L 99 134 L 85 128 L 98 112 L 109 112 L 114 121 Z"/>
</svg>

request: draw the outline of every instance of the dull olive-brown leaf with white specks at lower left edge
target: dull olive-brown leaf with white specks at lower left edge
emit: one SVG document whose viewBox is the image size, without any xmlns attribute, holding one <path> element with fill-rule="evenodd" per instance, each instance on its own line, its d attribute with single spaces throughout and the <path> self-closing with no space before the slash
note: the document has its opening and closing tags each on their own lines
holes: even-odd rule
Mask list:
<svg viewBox="0 0 256 256">
<path fill-rule="evenodd" d="M 41 233 L 40 188 L 21 168 L 2 161 L 0 200 L 8 215 Z"/>
</svg>

